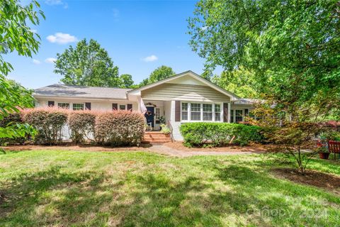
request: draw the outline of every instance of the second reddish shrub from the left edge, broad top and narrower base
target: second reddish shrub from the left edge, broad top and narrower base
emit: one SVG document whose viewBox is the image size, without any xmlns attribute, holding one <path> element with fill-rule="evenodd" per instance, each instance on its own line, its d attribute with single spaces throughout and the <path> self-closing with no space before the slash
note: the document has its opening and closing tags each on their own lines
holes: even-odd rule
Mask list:
<svg viewBox="0 0 340 227">
<path fill-rule="evenodd" d="M 67 123 L 68 110 L 57 108 L 25 109 L 23 121 L 38 130 L 35 143 L 55 144 L 62 140 L 62 126 Z"/>
</svg>

